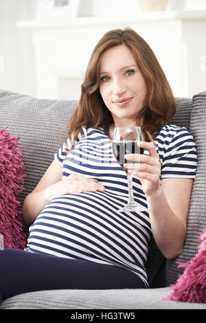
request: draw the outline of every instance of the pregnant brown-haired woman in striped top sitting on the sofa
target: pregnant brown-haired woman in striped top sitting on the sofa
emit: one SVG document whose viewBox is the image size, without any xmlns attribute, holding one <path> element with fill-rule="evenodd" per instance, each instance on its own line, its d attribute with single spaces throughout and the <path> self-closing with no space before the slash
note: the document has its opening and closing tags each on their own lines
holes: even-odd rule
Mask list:
<svg viewBox="0 0 206 323">
<path fill-rule="evenodd" d="M 23 216 L 25 250 L 0 252 L 0 302 L 45 289 L 147 288 L 148 244 L 181 254 L 196 172 L 196 145 L 171 123 L 175 100 L 152 49 L 135 31 L 111 30 L 87 67 L 68 138 L 33 192 Z M 141 126 L 144 154 L 119 166 L 117 127 Z M 128 201 L 126 172 L 142 211 Z"/>
</svg>

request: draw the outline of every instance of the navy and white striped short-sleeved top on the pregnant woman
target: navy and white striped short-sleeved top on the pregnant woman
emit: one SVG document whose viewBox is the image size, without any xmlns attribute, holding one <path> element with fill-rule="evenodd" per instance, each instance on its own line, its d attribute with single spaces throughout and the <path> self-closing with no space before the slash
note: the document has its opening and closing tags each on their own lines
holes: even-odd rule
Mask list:
<svg viewBox="0 0 206 323">
<path fill-rule="evenodd" d="M 147 211 L 118 212 L 128 201 L 126 172 L 113 157 L 108 128 L 83 128 L 75 147 L 69 138 L 55 154 L 62 179 L 76 172 L 98 179 L 105 192 L 56 197 L 30 226 L 27 251 L 116 265 L 133 271 L 148 286 L 146 260 L 152 236 Z M 185 128 L 161 127 L 155 137 L 161 179 L 194 178 L 196 145 Z M 148 153 L 148 151 L 144 151 Z M 133 178 L 135 201 L 147 208 L 141 183 Z"/>
</svg>

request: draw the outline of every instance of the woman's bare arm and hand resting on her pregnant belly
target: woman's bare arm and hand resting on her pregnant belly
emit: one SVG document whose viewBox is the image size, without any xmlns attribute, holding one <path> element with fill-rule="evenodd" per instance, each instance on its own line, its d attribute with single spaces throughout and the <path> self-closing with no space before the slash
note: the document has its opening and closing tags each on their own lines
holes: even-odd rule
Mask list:
<svg viewBox="0 0 206 323">
<path fill-rule="evenodd" d="M 62 166 L 54 160 L 49 166 L 41 181 L 34 190 L 27 195 L 23 203 L 22 214 L 28 224 L 34 223 L 38 214 L 47 203 L 55 197 L 65 194 L 77 194 L 83 191 L 95 192 L 105 190 L 96 179 L 88 179 L 78 174 L 71 174 L 66 179 L 62 177 Z"/>
</svg>

